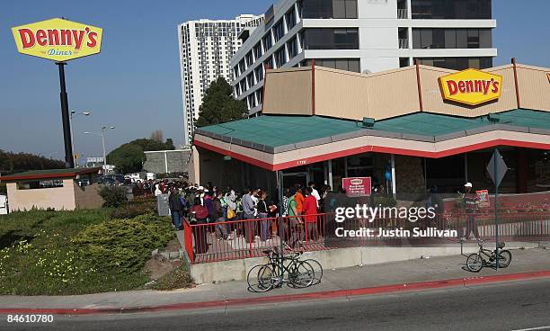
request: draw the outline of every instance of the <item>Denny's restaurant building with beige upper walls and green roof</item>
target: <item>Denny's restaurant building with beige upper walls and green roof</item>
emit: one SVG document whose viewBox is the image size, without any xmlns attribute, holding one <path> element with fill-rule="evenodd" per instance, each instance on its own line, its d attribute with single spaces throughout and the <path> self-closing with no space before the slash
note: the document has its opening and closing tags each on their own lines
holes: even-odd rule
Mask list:
<svg viewBox="0 0 550 331">
<path fill-rule="evenodd" d="M 508 166 L 503 193 L 550 190 L 550 68 L 483 71 L 415 65 L 359 74 L 329 67 L 267 70 L 262 116 L 196 130 L 193 183 L 267 188 L 342 178 L 408 194 L 492 192 L 494 148 Z M 413 199 L 413 198 L 411 198 Z"/>
</svg>

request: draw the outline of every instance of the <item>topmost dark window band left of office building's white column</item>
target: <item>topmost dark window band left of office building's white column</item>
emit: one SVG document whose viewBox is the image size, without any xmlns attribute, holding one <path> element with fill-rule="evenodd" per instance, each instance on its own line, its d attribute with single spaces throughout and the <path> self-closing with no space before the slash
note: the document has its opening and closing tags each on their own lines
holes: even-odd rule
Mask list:
<svg viewBox="0 0 550 331">
<path fill-rule="evenodd" d="M 357 18 L 357 0 L 302 0 L 302 18 Z"/>
</svg>

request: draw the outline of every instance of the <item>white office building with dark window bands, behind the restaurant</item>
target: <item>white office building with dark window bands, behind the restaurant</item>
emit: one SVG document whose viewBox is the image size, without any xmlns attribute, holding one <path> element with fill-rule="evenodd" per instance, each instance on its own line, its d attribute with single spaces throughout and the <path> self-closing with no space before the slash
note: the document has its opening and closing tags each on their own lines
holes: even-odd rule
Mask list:
<svg viewBox="0 0 550 331">
<path fill-rule="evenodd" d="M 491 0 L 281 0 L 231 59 L 232 85 L 262 109 L 264 65 L 356 72 L 424 65 L 492 67 Z"/>
</svg>

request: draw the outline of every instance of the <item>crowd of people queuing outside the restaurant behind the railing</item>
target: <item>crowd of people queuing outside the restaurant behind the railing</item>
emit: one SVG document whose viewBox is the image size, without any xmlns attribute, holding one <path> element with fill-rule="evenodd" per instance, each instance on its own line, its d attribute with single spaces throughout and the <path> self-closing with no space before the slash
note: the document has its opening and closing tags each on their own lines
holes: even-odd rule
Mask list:
<svg viewBox="0 0 550 331">
<path fill-rule="evenodd" d="M 191 224 L 210 225 L 201 228 L 208 228 L 217 240 L 244 237 L 246 243 L 269 242 L 277 236 L 292 247 L 300 246 L 305 238 L 315 241 L 322 231 L 318 227 L 318 215 L 332 210 L 336 202 L 336 194 L 330 186 L 324 185 L 317 190 L 313 182 L 305 187 L 297 183 L 286 189 L 282 209 L 279 208 L 279 194 L 271 196 L 262 188 L 235 192 L 231 187 L 222 189 L 209 182 L 206 185 L 165 181 L 147 184 L 151 194 L 169 194 L 176 229 L 182 229 L 185 218 Z M 280 225 L 278 216 L 284 217 Z M 251 221 L 245 221 L 247 219 Z M 242 221 L 227 222 L 236 220 Z M 196 243 L 206 243 L 207 231 L 202 230 L 195 236 Z"/>
</svg>

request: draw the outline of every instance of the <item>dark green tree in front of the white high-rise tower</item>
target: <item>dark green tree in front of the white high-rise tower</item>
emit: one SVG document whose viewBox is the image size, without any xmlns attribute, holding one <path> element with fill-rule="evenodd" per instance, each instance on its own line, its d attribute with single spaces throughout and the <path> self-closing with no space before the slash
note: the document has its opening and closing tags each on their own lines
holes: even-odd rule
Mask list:
<svg viewBox="0 0 550 331">
<path fill-rule="evenodd" d="M 248 109 L 244 100 L 236 100 L 231 92 L 231 85 L 224 77 L 220 76 L 208 86 L 204 93 L 199 107 L 199 119 L 195 124 L 197 127 L 204 127 L 227 121 L 243 120 L 247 115 Z"/>
</svg>

